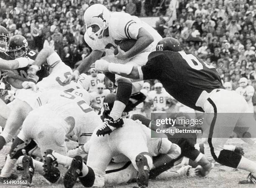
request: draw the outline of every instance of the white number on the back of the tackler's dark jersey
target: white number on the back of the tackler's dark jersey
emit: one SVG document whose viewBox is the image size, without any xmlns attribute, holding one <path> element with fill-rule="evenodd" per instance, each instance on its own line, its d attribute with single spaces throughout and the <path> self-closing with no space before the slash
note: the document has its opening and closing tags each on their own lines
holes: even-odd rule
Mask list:
<svg viewBox="0 0 256 188">
<path fill-rule="evenodd" d="M 195 70 L 202 70 L 204 69 L 202 63 L 209 69 L 214 69 L 214 66 L 212 65 L 208 65 L 206 64 L 204 61 L 199 61 L 195 56 L 193 56 L 192 54 L 187 54 L 184 51 L 179 51 L 179 54 L 182 56 L 182 58 L 184 58 L 187 61 L 187 64 L 189 64 L 189 66 L 192 69 Z"/>
</svg>

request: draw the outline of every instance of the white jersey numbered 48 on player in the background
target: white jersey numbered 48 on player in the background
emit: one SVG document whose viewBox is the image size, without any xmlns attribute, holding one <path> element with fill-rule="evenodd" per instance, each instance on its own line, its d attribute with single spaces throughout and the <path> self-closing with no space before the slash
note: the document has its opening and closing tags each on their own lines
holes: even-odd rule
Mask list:
<svg viewBox="0 0 256 188">
<path fill-rule="evenodd" d="M 166 101 L 170 97 L 167 92 L 161 92 L 157 94 L 155 90 L 148 92 L 148 100 L 153 100 L 153 109 L 162 110 L 166 107 Z"/>
</svg>

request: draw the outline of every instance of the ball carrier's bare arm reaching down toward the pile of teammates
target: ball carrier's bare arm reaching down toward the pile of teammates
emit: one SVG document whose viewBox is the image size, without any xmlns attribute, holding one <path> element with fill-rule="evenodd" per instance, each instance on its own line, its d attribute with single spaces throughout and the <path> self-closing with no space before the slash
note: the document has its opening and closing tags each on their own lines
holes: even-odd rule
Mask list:
<svg viewBox="0 0 256 188">
<path fill-rule="evenodd" d="M 69 78 L 65 82 L 70 82 L 72 80 L 77 81 L 79 78 L 79 74 L 87 72 L 90 69 L 90 66 L 102 57 L 103 53 L 103 51 L 93 50 L 89 56 L 81 61 L 77 69 L 73 72 L 71 76 L 69 76 Z"/>
</svg>

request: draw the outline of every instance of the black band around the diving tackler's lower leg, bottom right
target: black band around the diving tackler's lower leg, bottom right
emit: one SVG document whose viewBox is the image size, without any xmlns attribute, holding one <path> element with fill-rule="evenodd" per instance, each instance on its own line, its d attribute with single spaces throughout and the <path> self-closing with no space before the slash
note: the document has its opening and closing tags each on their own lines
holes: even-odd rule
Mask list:
<svg viewBox="0 0 256 188">
<path fill-rule="evenodd" d="M 217 162 L 231 168 L 237 168 L 241 158 L 242 156 L 236 152 L 230 150 L 221 150 Z"/>
</svg>

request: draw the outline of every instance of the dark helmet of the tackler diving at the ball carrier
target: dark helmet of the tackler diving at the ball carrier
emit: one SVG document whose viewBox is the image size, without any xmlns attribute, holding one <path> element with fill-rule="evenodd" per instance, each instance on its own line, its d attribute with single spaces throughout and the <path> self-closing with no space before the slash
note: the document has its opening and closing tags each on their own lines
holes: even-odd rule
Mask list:
<svg viewBox="0 0 256 188">
<path fill-rule="evenodd" d="M 181 51 L 181 46 L 176 38 L 166 37 L 156 45 L 156 51 Z"/>
</svg>

